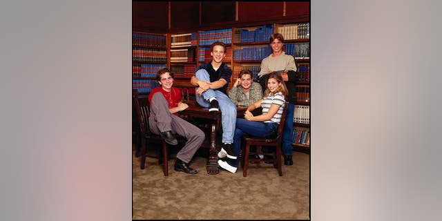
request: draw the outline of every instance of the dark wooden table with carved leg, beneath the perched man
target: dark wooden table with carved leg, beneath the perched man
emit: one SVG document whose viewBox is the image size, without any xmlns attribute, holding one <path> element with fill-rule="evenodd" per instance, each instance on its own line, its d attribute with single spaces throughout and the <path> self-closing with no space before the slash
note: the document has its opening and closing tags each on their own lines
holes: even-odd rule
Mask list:
<svg viewBox="0 0 442 221">
<path fill-rule="evenodd" d="M 189 105 L 186 110 L 180 112 L 180 117 L 193 121 L 195 119 L 207 119 L 211 125 L 210 137 L 210 153 L 209 160 L 207 160 L 207 173 L 218 174 L 220 169 L 218 167 L 218 151 L 215 146 L 216 132 L 221 126 L 221 111 L 209 112 L 209 108 L 200 106 L 195 101 L 184 101 Z M 247 108 L 238 108 L 237 116 L 242 117 Z"/>
</svg>

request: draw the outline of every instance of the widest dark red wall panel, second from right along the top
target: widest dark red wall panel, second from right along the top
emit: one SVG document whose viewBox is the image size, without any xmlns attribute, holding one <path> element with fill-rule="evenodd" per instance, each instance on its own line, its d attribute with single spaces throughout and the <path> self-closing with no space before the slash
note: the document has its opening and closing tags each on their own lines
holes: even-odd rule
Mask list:
<svg viewBox="0 0 442 221">
<path fill-rule="evenodd" d="M 238 22 L 282 19 L 283 1 L 238 1 Z"/>
</svg>

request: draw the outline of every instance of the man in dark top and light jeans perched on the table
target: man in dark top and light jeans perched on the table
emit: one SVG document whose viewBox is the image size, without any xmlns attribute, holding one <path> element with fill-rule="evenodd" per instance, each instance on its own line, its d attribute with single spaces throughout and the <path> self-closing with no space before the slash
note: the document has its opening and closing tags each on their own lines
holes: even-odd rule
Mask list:
<svg viewBox="0 0 442 221">
<path fill-rule="evenodd" d="M 196 101 L 200 106 L 209 108 L 209 112 L 221 111 L 222 146 L 218 157 L 236 160 L 233 153 L 233 133 L 236 124 L 236 105 L 227 96 L 227 86 L 232 70 L 222 60 L 226 56 L 226 45 L 216 41 L 211 45 L 212 59 L 196 68 L 191 84 L 196 86 Z"/>
</svg>

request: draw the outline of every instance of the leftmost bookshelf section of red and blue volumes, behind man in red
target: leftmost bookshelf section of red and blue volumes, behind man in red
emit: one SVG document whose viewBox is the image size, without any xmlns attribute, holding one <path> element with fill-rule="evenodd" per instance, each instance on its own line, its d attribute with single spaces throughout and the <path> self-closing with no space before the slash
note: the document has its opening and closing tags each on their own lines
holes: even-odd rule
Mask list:
<svg viewBox="0 0 442 221">
<path fill-rule="evenodd" d="M 167 66 L 166 35 L 132 32 L 132 89 L 148 94 L 159 84 L 158 70 Z"/>
</svg>

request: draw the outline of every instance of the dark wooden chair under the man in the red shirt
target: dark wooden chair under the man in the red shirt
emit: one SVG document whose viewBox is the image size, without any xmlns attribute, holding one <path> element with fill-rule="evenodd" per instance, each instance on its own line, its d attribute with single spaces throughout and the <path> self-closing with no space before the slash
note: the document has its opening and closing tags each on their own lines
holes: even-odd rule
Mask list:
<svg viewBox="0 0 442 221">
<path fill-rule="evenodd" d="M 146 141 L 149 141 L 149 144 L 152 142 L 160 142 L 162 145 L 162 157 L 163 157 L 163 173 L 164 175 L 169 175 L 169 164 L 167 163 L 168 160 L 168 153 L 167 153 L 167 144 L 164 141 L 164 139 L 155 133 L 152 133 L 149 128 L 149 104 L 148 104 L 148 97 L 138 97 L 135 96 L 135 108 L 137 109 L 137 115 L 138 115 L 138 123 L 140 124 L 140 131 L 141 131 L 141 165 L 140 169 L 144 169 L 144 164 L 146 164 Z M 176 136 L 177 140 L 182 140 L 183 137 Z"/>
</svg>

